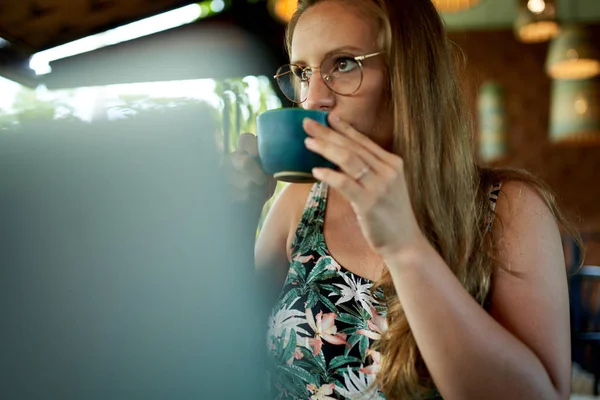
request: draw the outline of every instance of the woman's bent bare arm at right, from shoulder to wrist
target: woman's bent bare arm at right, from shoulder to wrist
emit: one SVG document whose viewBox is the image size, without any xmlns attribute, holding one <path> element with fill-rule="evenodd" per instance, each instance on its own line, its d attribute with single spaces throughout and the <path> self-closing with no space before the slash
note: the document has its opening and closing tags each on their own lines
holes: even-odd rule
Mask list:
<svg viewBox="0 0 600 400">
<path fill-rule="evenodd" d="M 557 225 L 538 194 L 509 182 L 495 224 L 497 257 L 488 314 L 428 243 L 388 260 L 425 363 L 442 396 L 568 399 L 570 331 Z"/>
</svg>

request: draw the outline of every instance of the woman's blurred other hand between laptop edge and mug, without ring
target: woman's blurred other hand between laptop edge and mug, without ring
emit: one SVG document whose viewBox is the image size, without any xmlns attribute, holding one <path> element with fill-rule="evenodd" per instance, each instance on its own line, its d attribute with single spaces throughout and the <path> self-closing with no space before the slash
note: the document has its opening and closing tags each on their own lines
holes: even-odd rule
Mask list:
<svg viewBox="0 0 600 400">
<path fill-rule="evenodd" d="M 251 133 L 242 133 L 237 149 L 227 156 L 226 166 L 234 188 L 235 199 L 258 213 L 265 202 L 273 196 L 276 182 L 265 174 L 258 158 L 258 142 Z"/>
</svg>

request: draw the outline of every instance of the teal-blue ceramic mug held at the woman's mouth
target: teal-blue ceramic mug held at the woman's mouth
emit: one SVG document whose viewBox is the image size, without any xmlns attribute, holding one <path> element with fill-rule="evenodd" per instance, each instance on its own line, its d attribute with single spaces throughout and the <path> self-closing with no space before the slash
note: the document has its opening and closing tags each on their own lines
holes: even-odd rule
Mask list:
<svg viewBox="0 0 600 400">
<path fill-rule="evenodd" d="M 316 182 L 311 171 L 315 167 L 335 169 L 336 166 L 319 154 L 308 150 L 308 137 L 302 126 L 304 118 L 329 126 L 328 113 L 302 108 L 281 108 L 266 111 L 256 119 L 258 155 L 267 174 L 279 181 L 292 183 Z"/>
</svg>

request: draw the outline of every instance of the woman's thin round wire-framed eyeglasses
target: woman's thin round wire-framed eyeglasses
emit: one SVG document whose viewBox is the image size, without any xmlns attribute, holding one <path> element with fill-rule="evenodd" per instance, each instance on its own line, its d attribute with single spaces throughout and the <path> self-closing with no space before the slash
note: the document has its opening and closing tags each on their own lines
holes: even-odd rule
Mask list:
<svg viewBox="0 0 600 400">
<path fill-rule="evenodd" d="M 285 97 L 296 104 L 304 103 L 308 98 L 308 86 L 314 69 L 320 71 L 321 78 L 329 89 L 339 95 L 350 96 L 356 93 L 362 84 L 362 61 L 380 54 L 383 52 L 357 57 L 333 54 L 325 58 L 318 68 L 287 64 L 277 70 L 274 78 Z"/>
</svg>

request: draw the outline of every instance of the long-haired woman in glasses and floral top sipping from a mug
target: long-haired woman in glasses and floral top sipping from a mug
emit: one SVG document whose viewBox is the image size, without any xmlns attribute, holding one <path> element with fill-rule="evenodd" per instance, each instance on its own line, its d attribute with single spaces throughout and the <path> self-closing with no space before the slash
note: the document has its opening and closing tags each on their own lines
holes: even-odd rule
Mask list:
<svg viewBox="0 0 600 400">
<path fill-rule="evenodd" d="M 536 179 L 476 165 L 431 1 L 301 0 L 286 39 L 279 84 L 330 112 L 306 146 L 340 171 L 286 187 L 256 244 L 273 396 L 567 399 L 564 220 Z M 258 215 L 273 185 L 250 155 L 244 135 Z"/>
</svg>

